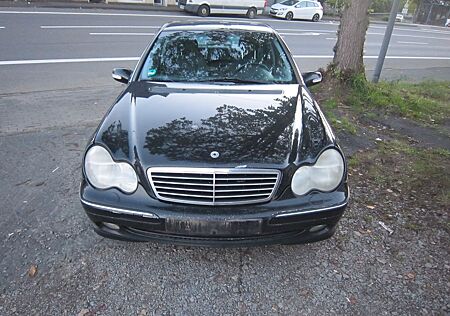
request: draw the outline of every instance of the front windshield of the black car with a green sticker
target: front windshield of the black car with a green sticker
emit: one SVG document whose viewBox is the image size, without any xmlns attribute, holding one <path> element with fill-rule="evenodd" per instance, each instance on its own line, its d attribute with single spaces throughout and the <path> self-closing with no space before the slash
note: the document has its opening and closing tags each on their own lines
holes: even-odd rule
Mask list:
<svg viewBox="0 0 450 316">
<path fill-rule="evenodd" d="M 277 37 L 250 31 L 165 31 L 152 46 L 141 80 L 297 83 Z"/>
</svg>

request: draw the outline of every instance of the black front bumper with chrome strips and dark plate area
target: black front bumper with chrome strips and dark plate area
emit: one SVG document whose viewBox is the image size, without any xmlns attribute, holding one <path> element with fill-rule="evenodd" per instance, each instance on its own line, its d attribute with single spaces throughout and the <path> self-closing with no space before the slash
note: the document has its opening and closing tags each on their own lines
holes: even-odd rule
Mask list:
<svg viewBox="0 0 450 316">
<path fill-rule="evenodd" d="M 105 237 L 172 244 L 249 246 L 293 244 L 331 237 L 348 201 L 343 184 L 332 193 L 227 207 L 171 204 L 139 187 L 131 194 L 81 183 L 81 203 Z M 115 225 L 110 225 L 110 224 Z"/>
</svg>

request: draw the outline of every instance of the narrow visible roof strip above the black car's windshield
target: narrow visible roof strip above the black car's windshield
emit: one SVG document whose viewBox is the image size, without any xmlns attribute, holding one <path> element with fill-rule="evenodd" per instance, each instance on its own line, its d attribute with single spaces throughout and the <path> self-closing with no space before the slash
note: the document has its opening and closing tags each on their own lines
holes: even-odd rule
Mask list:
<svg viewBox="0 0 450 316">
<path fill-rule="evenodd" d="M 268 24 L 258 22 L 237 21 L 186 21 L 170 22 L 161 28 L 161 31 L 215 31 L 215 30 L 242 30 L 274 33 L 275 30 Z"/>
</svg>

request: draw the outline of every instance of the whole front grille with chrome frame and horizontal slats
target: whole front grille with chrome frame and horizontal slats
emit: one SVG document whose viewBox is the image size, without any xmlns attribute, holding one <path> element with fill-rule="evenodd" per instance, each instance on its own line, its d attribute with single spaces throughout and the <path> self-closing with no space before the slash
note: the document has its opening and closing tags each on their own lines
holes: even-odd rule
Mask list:
<svg viewBox="0 0 450 316">
<path fill-rule="evenodd" d="M 272 169 L 149 168 L 147 175 L 158 199 L 198 205 L 267 202 L 280 180 Z"/>
</svg>

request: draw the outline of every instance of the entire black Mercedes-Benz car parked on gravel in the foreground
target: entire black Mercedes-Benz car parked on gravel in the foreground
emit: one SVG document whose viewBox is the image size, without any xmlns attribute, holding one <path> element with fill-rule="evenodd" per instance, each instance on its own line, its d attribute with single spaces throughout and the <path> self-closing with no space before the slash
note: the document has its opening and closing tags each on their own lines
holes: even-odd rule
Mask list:
<svg viewBox="0 0 450 316">
<path fill-rule="evenodd" d="M 102 236 L 178 244 L 331 237 L 348 202 L 344 156 L 275 30 L 161 28 L 83 156 L 81 203 Z"/>
</svg>

